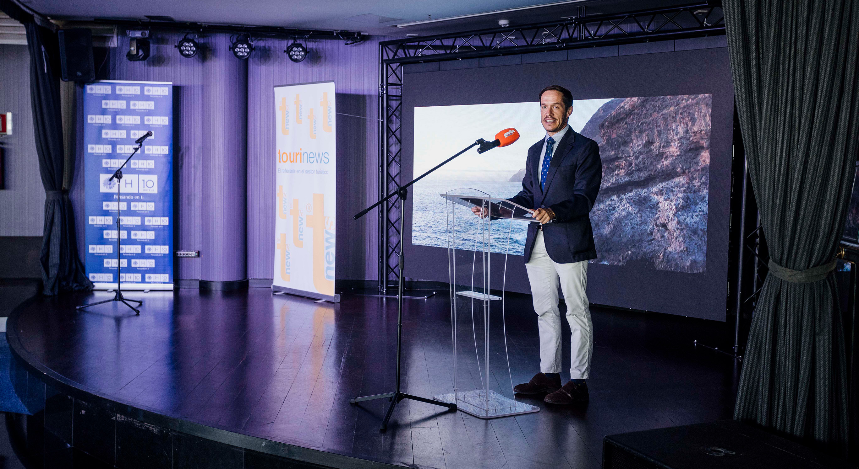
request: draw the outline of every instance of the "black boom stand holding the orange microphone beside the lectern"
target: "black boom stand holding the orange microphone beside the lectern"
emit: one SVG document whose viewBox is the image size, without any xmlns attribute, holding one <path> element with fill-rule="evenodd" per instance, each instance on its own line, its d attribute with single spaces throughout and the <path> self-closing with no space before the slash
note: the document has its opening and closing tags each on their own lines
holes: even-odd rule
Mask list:
<svg viewBox="0 0 859 469">
<path fill-rule="evenodd" d="M 357 213 L 354 217 L 352 217 L 353 219 L 359 219 L 362 216 L 366 215 L 370 210 L 374 209 L 375 207 L 379 207 L 385 201 L 390 200 L 394 195 L 397 195 L 399 197 L 399 236 L 400 236 L 400 239 L 399 239 L 399 266 L 397 269 L 398 273 L 399 273 L 399 285 L 397 286 L 397 382 L 394 384 L 394 388 L 393 388 L 392 393 L 373 394 L 373 395 L 369 395 L 369 396 L 356 397 L 356 398 L 349 400 L 350 404 L 357 404 L 358 402 L 362 402 L 364 400 L 377 400 L 377 399 L 386 399 L 387 398 L 387 400 L 390 401 L 391 404 L 387 407 L 387 412 L 385 413 L 385 418 L 382 419 L 382 421 L 381 421 L 381 428 L 379 429 L 381 431 L 387 430 L 387 422 L 391 419 L 391 414 L 393 413 L 393 407 L 396 406 L 400 400 L 404 400 L 404 399 L 419 400 L 421 402 L 426 402 L 427 404 L 432 404 L 434 406 L 448 407 L 448 410 L 450 410 L 450 411 L 456 410 L 456 404 L 455 403 L 448 404 L 447 402 L 442 402 L 439 400 L 431 400 L 431 399 L 427 399 L 425 397 L 420 397 L 420 396 L 416 396 L 416 395 L 412 395 L 412 394 L 405 394 L 399 390 L 400 389 L 399 378 L 400 378 L 400 368 L 401 368 L 400 365 L 402 362 L 402 350 L 403 350 L 403 282 L 404 282 L 404 280 L 403 280 L 403 268 L 405 267 L 405 255 L 403 253 L 403 245 L 405 243 L 404 243 L 402 237 L 403 237 L 403 233 L 405 232 L 405 231 L 403 231 L 404 226 L 405 226 L 405 223 L 404 223 L 404 220 L 405 220 L 405 199 L 408 198 L 409 187 L 412 184 L 417 183 L 417 181 L 420 181 L 421 179 L 423 179 L 423 177 L 426 177 L 428 174 L 430 174 L 430 172 L 436 171 L 438 168 L 441 168 L 443 165 L 447 165 L 448 162 L 450 162 L 452 159 L 456 158 L 457 156 L 460 156 L 460 154 L 462 154 L 462 153 L 466 153 L 468 150 L 472 149 L 472 147 L 476 147 L 478 145 L 480 145 L 480 148 L 478 149 L 478 153 L 483 153 L 484 151 L 489 150 L 490 148 L 497 146 L 497 145 L 493 145 L 493 142 L 484 141 L 484 139 L 482 139 L 482 138 L 478 139 L 478 141 L 475 141 L 474 143 L 472 143 L 471 145 L 466 147 L 464 150 L 462 150 L 460 153 L 456 153 L 456 154 L 454 154 L 454 156 L 452 156 L 448 159 L 445 159 L 444 161 L 442 161 L 442 163 L 439 163 L 438 165 L 436 165 L 436 167 L 432 168 L 430 171 L 426 171 L 422 175 L 420 175 L 419 177 L 416 177 L 413 181 L 411 181 L 411 183 L 407 183 L 405 185 L 399 186 L 399 189 L 397 189 L 395 192 L 388 194 L 387 197 L 385 197 L 381 201 L 377 201 L 373 205 L 371 205 L 367 208 L 364 208 L 360 213 Z M 380 280 L 380 281 L 384 281 L 384 280 Z"/>
</svg>

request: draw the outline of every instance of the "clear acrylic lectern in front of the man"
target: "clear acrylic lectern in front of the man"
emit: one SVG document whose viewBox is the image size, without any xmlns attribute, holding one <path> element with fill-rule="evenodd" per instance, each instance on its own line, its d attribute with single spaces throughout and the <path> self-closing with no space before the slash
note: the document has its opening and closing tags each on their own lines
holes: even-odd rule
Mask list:
<svg viewBox="0 0 859 469">
<path fill-rule="evenodd" d="M 538 412 L 538 406 L 515 400 L 504 319 L 504 286 L 511 235 L 515 224 L 533 220 L 532 211 L 477 189 L 454 189 L 442 197 L 447 200 L 454 392 L 436 395 L 434 399 L 456 404 L 458 410 L 478 418 Z M 478 207 L 482 216 L 473 213 L 472 207 Z M 500 282 L 491 275 L 492 253 L 503 256 Z M 496 273 L 499 273 L 497 268 Z M 501 296 L 492 294 L 493 291 Z M 493 325 L 494 328 L 490 327 Z M 503 339 L 508 376 L 492 371 L 503 373 L 501 354 L 490 352 L 491 345 L 500 346 L 499 339 Z M 505 394 L 510 397 L 498 392 L 506 387 L 505 378 L 509 379 L 510 386 Z"/>
</svg>

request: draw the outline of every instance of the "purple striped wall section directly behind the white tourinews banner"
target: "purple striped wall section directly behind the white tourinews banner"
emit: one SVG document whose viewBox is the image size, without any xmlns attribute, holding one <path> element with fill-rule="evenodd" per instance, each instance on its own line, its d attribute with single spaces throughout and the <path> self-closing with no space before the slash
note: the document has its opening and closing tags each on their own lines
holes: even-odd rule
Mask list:
<svg viewBox="0 0 859 469">
<path fill-rule="evenodd" d="M 305 43 L 310 55 L 293 63 L 283 54 L 291 41 L 259 41 L 247 77 L 247 275 L 271 279 L 274 269 L 276 85 L 335 82 L 337 87 L 337 278 L 375 280 L 377 213 L 352 215 L 376 199 L 378 184 L 379 38 L 357 45 Z M 352 117 L 344 114 L 351 114 Z M 253 183 L 250 183 L 253 181 Z"/>
</svg>

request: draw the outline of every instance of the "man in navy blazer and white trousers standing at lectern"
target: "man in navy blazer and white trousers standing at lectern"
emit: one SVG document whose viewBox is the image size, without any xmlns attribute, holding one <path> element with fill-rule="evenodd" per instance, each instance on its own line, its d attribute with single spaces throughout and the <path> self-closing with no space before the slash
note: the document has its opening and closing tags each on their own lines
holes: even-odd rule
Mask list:
<svg viewBox="0 0 859 469">
<path fill-rule="evenodd" d="M 509 200 L 534 209 L 528 224 L 525 267 L 537 312 L 540 372 L 516 386 L 520 394 L 548 393 L 545 401 L 573 404 L 588 400 L 588 378 L 594 347 L 588 309 L 588 260 L 596 258 L 590 213 L 602 180 L 600 147 L 570 128 L 570 90 L 552 85 L 539 95 L 540 120 L 546 135 L 528 148 L 522 190 Z M 475 213 L 480 208 L 475 207 Z M 561 316 L 558 286 L 567 305 L 572 332 L 570 382 L 561 386 Z"/>
</svg>

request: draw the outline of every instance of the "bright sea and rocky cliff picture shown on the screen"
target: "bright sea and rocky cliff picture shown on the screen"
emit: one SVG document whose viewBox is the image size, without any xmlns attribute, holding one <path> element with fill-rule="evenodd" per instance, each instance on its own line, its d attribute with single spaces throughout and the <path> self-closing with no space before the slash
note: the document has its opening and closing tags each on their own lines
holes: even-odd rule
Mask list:
<svg viewBox="0 0 859 469">
<path fill-rule="evenodd" d="M 710 94 L 690 94 L 582 99 L 573 103 L 570 125 L 600 145 L 603 165 L 600 195 L 590 214 L 599 256 L 592 262 L 704 273 L 711 98 Z M 505 110 L 509 112 L 505 114 Z M 509 152 L 497 153 L 496 159 L 481 159 L 466 153 L 442 168 L 443 171 L 417 183 L 412 207 L 412 244 L 447 247 L 445 201 L 439 196 L 443 192 L 473 188 L 493 197 L 515 195 L 525 174 L 527 147 L 545 135 L 539 125 L 537 102 L 415 108 L 416 129 L 433 127 L 436 135 L 474 130 L 475 122 L 491 121 L 499 115 L 505 117 L 505 123 L 512 121 L 509 122 L 512 125 L 504 126 L 519 129 L 521 140 L 493 150 Z M 430 119 L 431 123 L 424 122 Z M 497 131 L 494 122 L 486 123 L 486 129 L 477 126 L 485 135 Z M 417 138 L 415 176 L 448 152 L 446 145 L 418 142 Z M 473 141 L 475 137 L 470 138 Z M 462 142 L 463 147 L 468 144 L 467 140 Z M 492 155 L 484 154 L 485 158 Z M 492 251 L 507 252 L 509 223 L 514 224 L 509 254 L 521 256 L 527 224 L 519 221 L 493 222 Z M 477 229 L 475 217 L 474 230 Z M 456 247 L 472 249 L 466 242 Z"/>
</svg>

